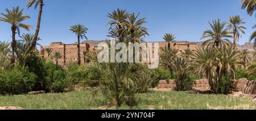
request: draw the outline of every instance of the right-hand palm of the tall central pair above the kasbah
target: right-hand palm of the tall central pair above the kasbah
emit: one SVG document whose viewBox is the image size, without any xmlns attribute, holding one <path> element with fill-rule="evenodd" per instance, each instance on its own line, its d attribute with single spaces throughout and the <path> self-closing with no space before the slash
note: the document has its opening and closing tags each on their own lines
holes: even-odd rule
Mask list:
<svg viewBox="0 0 256 121">
<path fill-rule="evenodd" d="M 144 35 L 148 35 L 147 28 L 142 27 L 142 24 L 146 23 L 145 18 L 138 19 L 139 14 L 130 14 L 125 20 L 125 31 L 130 32 L 131 43 L 135 43 L 134 35 L 136 31 L 142 32 Z"/>
</svg>

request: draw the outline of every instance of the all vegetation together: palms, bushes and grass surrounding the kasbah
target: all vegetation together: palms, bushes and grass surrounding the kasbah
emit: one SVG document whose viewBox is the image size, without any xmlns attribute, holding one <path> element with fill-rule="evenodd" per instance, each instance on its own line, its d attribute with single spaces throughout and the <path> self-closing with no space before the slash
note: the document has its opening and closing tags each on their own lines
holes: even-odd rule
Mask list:
<svg viewBox="0 0 256 121">
<path fill-rule="evenodd" d="M 83 52 L 85 64 L 81 64 L 80 39 L 86 39 L 89 30 L 82 24 L 76 24 L 69 30 L 77 36 L 78 61 L 68 64 L 67 68 L 59 65 L 63 55 L 46 48 L 49 59 L 39 57 L 36 50 L 40 40 L 40 20 L 43 0 L 28 1 L 27 8 L 40 5 L 38 24 L 35 34 L 29 33 L 30 24 L 23 22 L 30 16 L 23 14 L 23 9 L 14 7 L 1 14 L 0 21 L 9 23 L 12 31 L 11 43 L 0 42 L 0 106 L 22 106 L 26 109 L 94 109 L 108 104 L 120 109 L 229 109 L 242 105 L 255 109 L 255 102 L 227 96 L 233 91 L 234 80 L 247 78 L 256 80 L 256 52 L 236 47 L 242 34 L 245 34 L 244 20 L 239 15 L 227 20 L 212 20 L 209 28 L 203 32 L 203 44 L 196 51 L 186 49 L 183 52 L 171 48 L 175 34 L 163 35 L 166 47 L 160 48 L 160 66 L 148 69 L 144 63 L 104 62 L 97 59 L 97 52 Z M 253 6 L 252 6 L 253 5 Z M 255 1 L 242 0 L 242 9 L 249 15 L 254 12 Z M 142 43 L 150 34 L 144 27 L 146 18 L 141 14 L 117 9 L 107 15 L 110 22 L 109 37 L 116 43 Z M 24 28 L 27 34 L 20 35 Z M 68 29 L 68 28 L 67 28 Z M 18 34 L 19 39 L 16 37 Z M 255 32 L 250 37 L 256 41 Z M 255 42 L 254 42 L 255 43 Z M 195 80 L 206 78 L 212 94 L 203 97 L 188 94 Z M 176 91 L 148 91 L 158 85 L 159 80 L 175 80 Z M 75 86 L 90 87 L 90 91 L 69 92 Z M 26 95 L 30 91 L 45 90 L 42 95 Z M 18 94 L 18 95 L 17 95 Z M 24 95 L 19 95 L 24 94 Z M 14 96 L 12 96 L 14 95 Z M 74 100 L 71 100 L 71 97 Z M 188 99 L 189 98 L 189 99 Z M 215 101 L 215 102 L 214 102 Z M 27 105 L 23 102 L 36 102 Z M 42 103 L 40 105 L 37 103 Z M 49 107 L 51 103 L 52 107 Z M 65 104 L 58 105 L 57 103 Z M 185 104 L 181 106 L 182 104 Z M 212 104 L 212 105 L 209 105 Z M 143 105 L 142 105 L 143 104 Z M 160 106 L 160 107 L 159 107 Z M 162 107 L 161 107 L 162 106 Z M 167 106 L 167 107 L 165 107 Z M 221 107 L 219 107 L 221 106 Z M 233 108 L 234 109 L 234 108 Z"/>
</svg>

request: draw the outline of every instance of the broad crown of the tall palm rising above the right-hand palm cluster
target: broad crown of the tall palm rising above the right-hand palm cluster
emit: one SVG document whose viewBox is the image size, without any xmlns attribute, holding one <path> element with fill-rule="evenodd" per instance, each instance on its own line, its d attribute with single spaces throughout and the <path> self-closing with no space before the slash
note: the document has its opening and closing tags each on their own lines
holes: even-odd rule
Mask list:
<svg viewBox="0 0 256 121">
<path fill-rule="evenodd" d="M 203 37 L 201 39 L 207 38 L 204 41 L 203 45 L 211 45 L 212 47 L 220 48 L 229 41 L 228 38 L 230 33 L 228 32 L 228 28 L 225 28 L 226 22 L 221 22 L 220 19 L 213 20 L 212 23 L 208 22 L 212 30 L 204 31 Z"/>
</svg>

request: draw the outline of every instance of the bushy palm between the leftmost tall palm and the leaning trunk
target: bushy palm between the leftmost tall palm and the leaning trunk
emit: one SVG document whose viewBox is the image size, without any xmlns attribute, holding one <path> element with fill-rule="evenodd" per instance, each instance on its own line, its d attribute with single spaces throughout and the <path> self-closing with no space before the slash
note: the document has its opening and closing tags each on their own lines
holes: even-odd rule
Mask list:
<svg viewBox="0 0 256 121">
<path fill-rule="evenodd" d="M 31 57 L 36 56 L 36 41 L 34 41 L 34 34 L 23 34 L 20 36 L 20 39 L 17 43 L 16 55 L 19 65 L 25 66 L 28 61 L 31 60 Z"/>
</svg>

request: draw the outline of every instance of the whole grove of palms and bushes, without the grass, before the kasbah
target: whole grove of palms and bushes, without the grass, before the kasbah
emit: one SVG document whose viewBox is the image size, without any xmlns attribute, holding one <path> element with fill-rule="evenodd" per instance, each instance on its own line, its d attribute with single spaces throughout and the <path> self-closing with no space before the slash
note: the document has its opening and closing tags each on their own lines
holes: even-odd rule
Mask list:
<svg viewBox="0 0 256 121">
<path fill-rule="evenodd" d="M 242 9 L 249 15 L 255 10 L 254 0 L 242 0 Z M 14 7 L 2 13 L 0 21 L 9 23 L 12 41 L 0 43 L 0 94 L 24 94 L 28 91 L 46 90 L 63 92 L 64 88 L 73 89 L 73 85 L 93 87 L 92 98 L 102 93 L 112 105 L 135 105 L 135 93 L 146 93 L 148 87 L 154 87 L 158 80 L 175 79 L 176 90 L 192 88 L 193 81 L 207 78 L 213 93 L 228 94 L 232 91 L 233 80 L 248 78 L 255 80 L 256 53 L 247 49 L 238 51 L 237 42 L 245 34 L 245 21 L 239 15 L 230 16 L 227 22 L 220 19 L 209 22 L 209 29 L 203 32 L 203 44 L 197 50 L 179 51 L 171 48 L 174 34 L 166 34 L 163 40 L 167 45 L 160 48 L 160 67 L 148 69 L 142 63 L 117 63 L 96 61 L 97 52 L 83 52 L 85 64 L 81 65 L 80 39 L 86 39 L 88 28 L 82 24 L 71 26 L 69 30 L 77 36 L 77 63 L 71 63 L 67 69 L 58 65 L 62 55 L 46 48 L 49 59 L 40 59 L 36 45 L 40 40 L 39 30 L 42 19 L 43 0 L 27 1 L 27 8 L 39 6 L 38 24 L 35 34 L 20 35 L 20 29 L 30 31 L 30 24 L 23 22 L 30 16 L 23 9 Z M 141 43 L 149 36 L 145 18 L 140 14 L 126 10 L 114 10 L 107 15 L 110 19 L 109 37 L 117 43 Z M 256 31 L 250 41 L 256 43 Z M 19 35 L 19 39 L 16 35 Z M 89 60 L 89 61 L 88 61 Z"/>
</svg>

